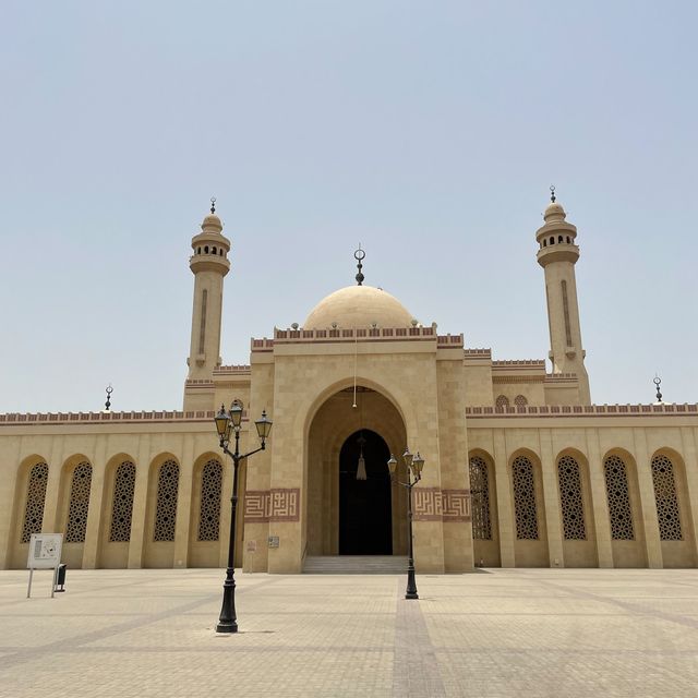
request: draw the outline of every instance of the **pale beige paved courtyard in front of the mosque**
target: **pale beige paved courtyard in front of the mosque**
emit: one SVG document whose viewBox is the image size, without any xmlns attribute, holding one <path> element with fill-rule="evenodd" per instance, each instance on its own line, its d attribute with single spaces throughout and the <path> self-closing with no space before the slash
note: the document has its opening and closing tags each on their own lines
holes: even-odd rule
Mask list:
<svg viewBox="0 0 698 698">
<path fill-rule="evenodd" d="M 0 571 L 0 696 L 698 696 L 698 570 Z"/>
</svg>

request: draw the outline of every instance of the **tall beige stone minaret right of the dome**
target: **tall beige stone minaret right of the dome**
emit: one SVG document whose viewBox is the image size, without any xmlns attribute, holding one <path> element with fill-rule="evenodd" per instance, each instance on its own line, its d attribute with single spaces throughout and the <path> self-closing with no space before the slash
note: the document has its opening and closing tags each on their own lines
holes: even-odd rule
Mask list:
<svg viewBox="0 0 698 698">
<path fill-rule="evenodd" d="M 589 376 L 585 369 L 585 350 L 581 346 L 579 305 L 575 264 L 579 248 L 575 244 L 577 228 L 565 220 L 565 209 L 555 201 L 555 188 L 551 186 L 551 204 L 543 214 L 545 220 L 535 232 L 540 246 L 538 263 L 545 269 L 545 297 L 550 327 L 550 360 L 553 373 L 576 373 L 579 380 L 579 401 L 591 404 Z"/>
</svg>

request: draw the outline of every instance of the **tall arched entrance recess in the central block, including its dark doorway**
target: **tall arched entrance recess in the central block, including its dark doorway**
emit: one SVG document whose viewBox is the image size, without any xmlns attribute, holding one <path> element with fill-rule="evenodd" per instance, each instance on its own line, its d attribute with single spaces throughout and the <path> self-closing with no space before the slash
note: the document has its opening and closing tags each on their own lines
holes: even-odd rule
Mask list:
<svg viewBox="0 0 698 698">
<path fill-rule="evenodd" d="M 354 402 L 350 387 L 325 400 L 308 441 L 306 556 L 406 554 L 407 495 L 387 469 L 406 443 L 400 413 L 380 392 L 358 386 Z M 366 479 L 357 480 L 362 447 Z"/>
</svg>

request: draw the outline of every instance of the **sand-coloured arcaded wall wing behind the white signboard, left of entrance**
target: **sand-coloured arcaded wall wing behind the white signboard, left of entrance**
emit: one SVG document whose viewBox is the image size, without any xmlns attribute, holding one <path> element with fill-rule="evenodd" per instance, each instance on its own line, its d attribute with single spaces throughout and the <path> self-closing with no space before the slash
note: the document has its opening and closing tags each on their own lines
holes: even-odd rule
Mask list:
<svg viewBox="0 0 698 698">
<path fill-rule="evenodd" d="M 41 531 L 63 533 L 63 562 L 72 568 L 226 564 L 232 477 L 213 413 L 116 414 L 2 426 L 0 568 L 24 567 L 29 537 Z M 98 422 L 71 424 L 73 418 Z M 243 464 L 241 497 L 245 474 Z M 239 562 L 242 535 L 240 510 Z"/>
</svg>

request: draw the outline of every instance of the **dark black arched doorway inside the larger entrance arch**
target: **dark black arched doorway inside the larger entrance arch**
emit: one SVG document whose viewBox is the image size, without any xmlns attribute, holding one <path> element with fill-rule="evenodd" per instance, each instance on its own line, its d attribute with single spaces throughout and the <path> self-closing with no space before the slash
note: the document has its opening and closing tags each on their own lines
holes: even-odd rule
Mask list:
<svg viewBox="0 0 698 698">
<path fill-rule="evenodd" d="M 357 480 L 363 437 L 366 479 Z M 387 444 L 368 429 L 353 433 L 339 453 L 339 554 L 392 555 L 393 525 Z"/>
</svg>

